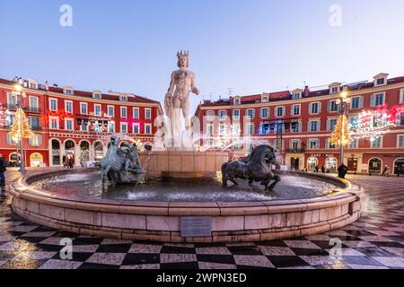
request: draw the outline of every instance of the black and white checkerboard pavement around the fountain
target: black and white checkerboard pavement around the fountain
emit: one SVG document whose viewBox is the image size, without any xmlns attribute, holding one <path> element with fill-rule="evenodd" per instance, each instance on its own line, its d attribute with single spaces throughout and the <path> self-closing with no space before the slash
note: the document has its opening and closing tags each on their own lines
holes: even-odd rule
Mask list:
<svg viewBox="0 0 404 287">
<path fill-rule="evenodd" d="M 8 182 L 18 178 L 7 171 Z M 404 268 L 404 178 L 349 175 L 366 189 L 363 217 L 338 230 L 297 239 L 232 244 L 171 244 L 78 236 L 27 222 L 0 194 L 0 269 L 396 269 Z M 62 260 L 60 239 L 73 240 Z M 342 255 L 329 257 L 330 239 Z"/>
</svg>

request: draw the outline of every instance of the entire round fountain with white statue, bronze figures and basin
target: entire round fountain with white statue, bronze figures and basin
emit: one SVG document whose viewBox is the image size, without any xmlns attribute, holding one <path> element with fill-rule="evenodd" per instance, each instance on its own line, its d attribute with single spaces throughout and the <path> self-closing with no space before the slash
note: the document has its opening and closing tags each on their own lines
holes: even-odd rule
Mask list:
<svg viewBox="0 0 404 287">
<path fill-rule="evenodd" d="M 13 211 L 57 230 L 163 242 L 293 238 L 360 217 L 362 187 L 319 174 L 274 172 L 268 164 L 276 164 L 277 155 L 268 144 L 242 161 L 229 161 L 228 152 L 197 151 L 189 92 L 199 91 L 189 53 L 177 56 L 180 70 L 171 74 L 164 100 L 161 150 L 138 152 L 114 135 L 101 176 L 100 169 L 83 169 L 20 178 L 10 188 Z"/>
</svg>

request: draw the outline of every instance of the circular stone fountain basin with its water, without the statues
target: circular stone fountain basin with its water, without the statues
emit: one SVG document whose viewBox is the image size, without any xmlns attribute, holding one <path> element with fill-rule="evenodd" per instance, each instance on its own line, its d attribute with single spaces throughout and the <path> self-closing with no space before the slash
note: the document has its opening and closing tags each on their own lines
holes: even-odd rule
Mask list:
<svg viewBox="0 0 404 287">
<path fill-rule="evenodd" d="M 222 188 L 219 179 L 150 179 L 102 192 L 100 171 L 59 170 L 13 182 L 13 211 L 58 230 L 164 242 L 285 239 L 355 222 L 364 190 L 346 180 L 285 173 L 274 192 Z M 188 236 L 184 219 L 208 222 L 208 235 Z M 206 231 L 206 230 L 205 230 Z M 181 236 L 182 235 L 182 236 Z"/>
</svg>

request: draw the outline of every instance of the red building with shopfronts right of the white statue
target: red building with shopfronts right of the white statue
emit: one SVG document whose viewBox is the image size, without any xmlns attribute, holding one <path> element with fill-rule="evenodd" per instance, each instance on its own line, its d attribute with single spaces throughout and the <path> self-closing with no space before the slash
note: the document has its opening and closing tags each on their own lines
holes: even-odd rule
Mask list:
<svg viewBox="0 0 404 287">
<path fill-rule="evenodd" d="M 355 124 L 362 111 L 370 111 L 390 115 L 393 124 L 372 142 L 360 138 L 345 148 L 344 162 L 349 170 L 381 173 L 387 165 L 390 173 L 404 173 L 404 77 L 389 79 L 388 74 L 377 74 L 371 82 L 331 83 L 312 91 L 306 86 L 294 91 L 205 100 L 198 106 L 196 117 L 211 137 L 201 144 L 230 147 L 235 157 L 242 157 L 250 144 L 237 143 L 237 138 L 249 135 L 250 143 L 264 141 L 277 146 L 288 169 L 313 170 L 324 165 L 333 170 L 339 165 L 339 148 L 329 144 L 329 139 L 339 116 L 336 100 L 342 91 L 351 100 L 347 105 L 350 123 Z M 275 121 L 294 124 L 276 127 Z"/>
</svg>

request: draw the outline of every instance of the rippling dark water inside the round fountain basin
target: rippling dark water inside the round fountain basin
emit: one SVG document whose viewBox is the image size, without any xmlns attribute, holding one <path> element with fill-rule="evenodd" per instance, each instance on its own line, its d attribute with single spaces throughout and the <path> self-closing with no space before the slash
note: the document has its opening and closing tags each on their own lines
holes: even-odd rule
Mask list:
<svg viewBox="0 0 404 287">
<path fill-rule="evenodd" d="M 274 199 L 300 199 L 329 195 L 335 186 L 310 178 L 296 180 L 295 175 L 283 175 L 273 192 L 264 193 L 256 183 L 249 187 L 245 180 L 235 187 L 221 187 L 220 174 L 215 178 L 148 178 L 145 183 L 119 185 L 102 190 L 99 172 L 87 172 L 46 178 L 33 183 L 63 196 L 82 196 L 136 201 L 164 202 L 240 202 Z"/>
</svg>

